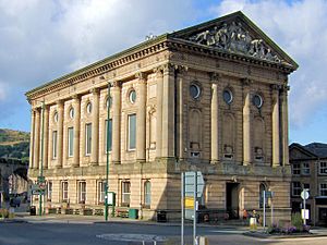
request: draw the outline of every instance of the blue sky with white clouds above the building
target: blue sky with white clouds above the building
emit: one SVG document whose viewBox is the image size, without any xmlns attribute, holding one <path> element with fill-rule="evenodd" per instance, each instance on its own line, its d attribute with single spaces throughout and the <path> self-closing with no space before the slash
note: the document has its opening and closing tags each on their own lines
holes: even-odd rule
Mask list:
<svg viewBox="0 0 327 245">
<path fill-rule="evenodd" d="M 242 11 L 300 65 L 290 143 L 327 143 L 327 0 L 0 0 L 0 127 L 29 131 L 25 93 L 145 37 Z"/>
</svg>

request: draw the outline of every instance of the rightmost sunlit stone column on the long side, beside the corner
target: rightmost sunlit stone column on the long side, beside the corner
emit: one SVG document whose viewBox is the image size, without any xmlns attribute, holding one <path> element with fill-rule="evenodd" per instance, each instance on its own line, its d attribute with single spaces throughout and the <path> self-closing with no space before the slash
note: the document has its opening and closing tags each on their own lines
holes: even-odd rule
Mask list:
<svg viewBox="0 0 327 245">
<path fill-rule="evenodd" d="M 161 157 L 162 148 L 162 87 L 164 87 L 164 74 L 162 68 L 159 66 L 154 70 L 156 73 L 157 82 L 157 138 L 156 138 L 156 157 Z"/>
</svg>

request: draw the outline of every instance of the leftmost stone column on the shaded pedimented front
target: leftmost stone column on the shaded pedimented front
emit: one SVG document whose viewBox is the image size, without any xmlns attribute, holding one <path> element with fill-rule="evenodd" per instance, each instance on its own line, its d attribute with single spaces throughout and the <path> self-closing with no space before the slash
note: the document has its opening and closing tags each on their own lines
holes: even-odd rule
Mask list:
<svg viewBox="0 0 327 245">
<path fill-rule="evenodd" d="M 187 68 L 186 66 L 179 66 L 178 68 L 178 74 L 177 74 L 177 114 L 178 114 L 178 128 L 175 128 L 178 131 L 178 157 L 180 159 L 184 159 L 185 158 L 185 151 L 184 148 L 186 147 L 184 144 L 184 97 L 183 97 L 183 85 L 184 85 L 184 79 L 185 79 L 185 74 L 186 74 Z"/>
</svg>

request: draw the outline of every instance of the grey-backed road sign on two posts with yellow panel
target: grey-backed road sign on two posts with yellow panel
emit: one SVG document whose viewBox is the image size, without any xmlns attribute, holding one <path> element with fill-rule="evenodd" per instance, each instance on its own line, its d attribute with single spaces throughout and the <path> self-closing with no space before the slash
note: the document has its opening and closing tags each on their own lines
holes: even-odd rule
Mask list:
<svg viewBox="0 0 327 245">
<path fill-rule="evenodd" d="M 196 244 L 196 211 L 198 209 L 198 198 L 203 195 L 204 179 L 202 172 L 190 171 L 182 173 L 182 226 L 181 245 L 184 245 L 184 218 L 193 220 L 193 245 Z M 184 210 L 185 209 L 185 210 Z"/>
</svg>

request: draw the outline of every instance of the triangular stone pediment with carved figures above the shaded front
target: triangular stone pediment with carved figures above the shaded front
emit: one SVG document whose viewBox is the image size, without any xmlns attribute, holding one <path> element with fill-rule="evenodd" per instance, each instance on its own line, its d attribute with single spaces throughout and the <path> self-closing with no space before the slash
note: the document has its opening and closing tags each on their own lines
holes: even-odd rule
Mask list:
<svg viewBox="0 0 327 245">
<path fill-rule="evenodd" d="M 171 37 L 223 52 L 292 66 L 298 64 L 242 12 L 175 32 Z"/>
</svg>

